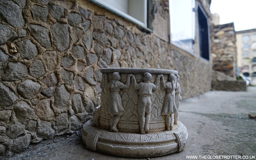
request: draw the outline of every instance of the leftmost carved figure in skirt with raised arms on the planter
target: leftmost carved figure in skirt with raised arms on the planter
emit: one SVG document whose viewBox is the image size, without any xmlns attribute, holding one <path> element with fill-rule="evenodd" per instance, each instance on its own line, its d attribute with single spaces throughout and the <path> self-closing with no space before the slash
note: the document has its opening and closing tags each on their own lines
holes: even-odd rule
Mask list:
<svg viewBox="0 0 256 160">
<path fill-rule="evenodd" d="M 119 81 L 121 79 L 121 76 L 118 72 L 113 73 L 113 79 L 110 82 L 108 82 L 107 75 L 104 74 L 103 78 L 105 79 L 106 86 L 111 90 L 111 93 L 108 98 L 108 108 L 107 108 L 107 113 L 110 114 L 110 130 L 119 132 L 119 130 L 116 128 L 116 125 L 119 122 L 120 118 L 124 115 L 124 106 L 122 104 L 120 89 L 129 88 L 131 74 L 128 75 L 125 84 Z M 102 82 L 103 82 L 103 78 L 102 78 Z M 102 84 L 102 86 L 104 86 L 104 84 Z"/>
</svg>

